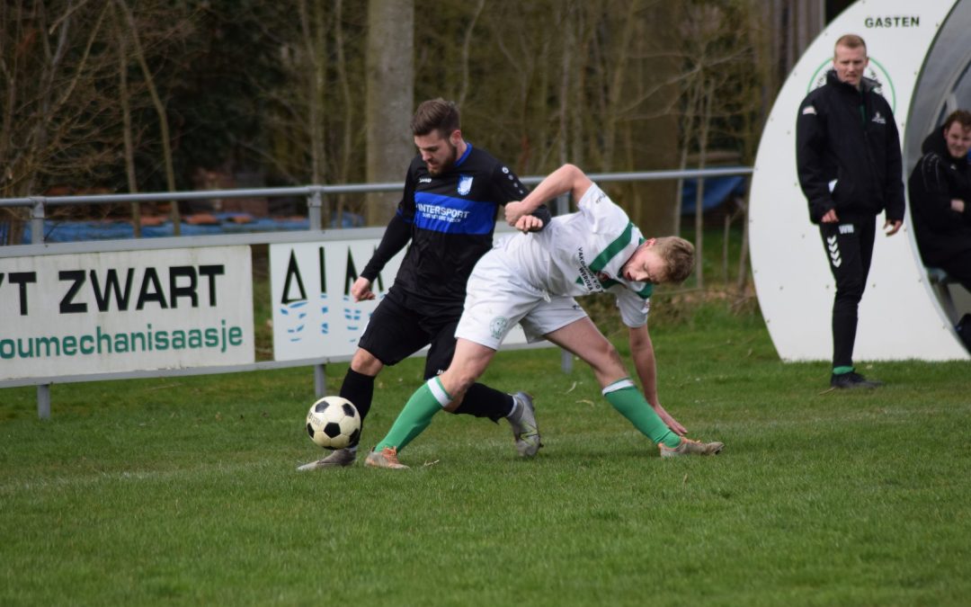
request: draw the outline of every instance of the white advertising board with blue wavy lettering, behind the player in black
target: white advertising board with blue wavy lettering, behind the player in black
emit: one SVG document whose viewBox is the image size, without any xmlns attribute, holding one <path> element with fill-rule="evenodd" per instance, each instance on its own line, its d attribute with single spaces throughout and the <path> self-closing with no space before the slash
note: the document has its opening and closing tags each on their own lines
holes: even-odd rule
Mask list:
<svg viewBox="0 0 971 607">
<path fill-rule="evenodd" d="M 379 242 L 364 238 L 270 246 L 274 359 L 351 358 L 405 255 L 392 257 L 375 279 L 376 299 L 354 302 L 351 286 Z M 526 343 L 522 329 L 517 326 L 504 343 Z"/>
</svg>

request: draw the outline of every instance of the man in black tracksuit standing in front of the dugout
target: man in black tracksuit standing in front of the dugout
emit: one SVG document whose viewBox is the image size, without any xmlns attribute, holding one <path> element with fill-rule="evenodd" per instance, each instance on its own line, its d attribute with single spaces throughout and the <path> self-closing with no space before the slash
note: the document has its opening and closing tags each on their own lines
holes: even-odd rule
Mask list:
<svg viewBox="0 0 971 607">
<path fill-rule="evenodd" d="M 900 137 L 887 100 L 863 77 L 868 62 L 859 36 L 837 40 L 835 69 L 806 96 L 796 118 L 799 185 L 836 279 L 833 388 L 881 385 L 854 371 L 856 309 L 870 271 L 876 216 L 886 211 L 887 236 L 904 219 Z"/>
</svg>

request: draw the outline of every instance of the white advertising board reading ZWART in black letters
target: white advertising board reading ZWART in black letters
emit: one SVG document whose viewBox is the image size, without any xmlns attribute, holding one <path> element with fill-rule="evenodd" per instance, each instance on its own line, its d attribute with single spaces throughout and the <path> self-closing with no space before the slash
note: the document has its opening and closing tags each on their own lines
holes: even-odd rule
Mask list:
<svg viewBox="0 0 971 607">
<path fill-rule="evenodd" d="M 0 380 L 253 361 L 250 248 L 0 258 Z"/>
</svg>

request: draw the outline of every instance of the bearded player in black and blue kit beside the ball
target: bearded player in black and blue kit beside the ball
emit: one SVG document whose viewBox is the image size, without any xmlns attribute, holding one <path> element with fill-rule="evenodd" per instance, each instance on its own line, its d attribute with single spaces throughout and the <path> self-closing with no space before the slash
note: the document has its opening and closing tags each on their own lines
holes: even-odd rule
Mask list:
<svg viewBox="0 0 971 607">
<path fill-rule="evenodd" d="M 492 248 L 499 206 L 527 193 L 507 166 L 462 138 L 458 108 L 451 101 L 421 103 L 411 126 L 419 153 L 408 167 L 397 213 L 351 287 L 354 301 L 374 299 L 372 282 L 388 259 L 411 242 L 394 284 L 368 321 L 341 385 L 340 395 L 354 403 L 362 421 L 371 409 L 375 378 L 385 365 L 430 346 L 425 379 L 449 368 L 465 283 L 479 258 Z M 542 229 L 551 219 L 546 207 L 537 209 L 534 216 L 527 224 L 530 229 Z M 540 448 L 532 398 L 525 392 L 507 394 L 475 384 L 452 413 L 493 422 L 506 418 L 519 455 L 536 455 Z M 298 469 L 349 466 L 356 449 L 335 451 Z"/>
</svg>

